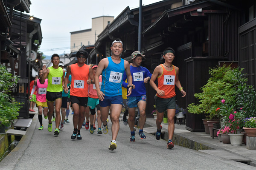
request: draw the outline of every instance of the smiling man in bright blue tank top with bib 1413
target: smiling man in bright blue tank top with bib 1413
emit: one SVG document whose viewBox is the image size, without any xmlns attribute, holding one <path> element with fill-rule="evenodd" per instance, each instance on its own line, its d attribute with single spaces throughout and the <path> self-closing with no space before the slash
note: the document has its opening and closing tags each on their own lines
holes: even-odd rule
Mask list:
<svg viewBox="0 0 256 170">
<path fill-rule="evenodd" d="M 101 111 L 102 131 L 108 133 L 108 112 L 111 109 L 112 141 L 109 150 L 116 149 L 116 137 L 119 131 L 119 116 L 122 110 L 122 76 L 124 72 L 128 80 L 128 93 L 131 94 L 132 77 L 128 61 L 120 58 L 123 51 L 122 41 L 117 39 L 112 42 L 112 56 L 104 58 L 99 62 L 94 77 L 99 105 Z M 99 89 L 99 76 L 102 74 L 102 86 Z"/>
</svg>

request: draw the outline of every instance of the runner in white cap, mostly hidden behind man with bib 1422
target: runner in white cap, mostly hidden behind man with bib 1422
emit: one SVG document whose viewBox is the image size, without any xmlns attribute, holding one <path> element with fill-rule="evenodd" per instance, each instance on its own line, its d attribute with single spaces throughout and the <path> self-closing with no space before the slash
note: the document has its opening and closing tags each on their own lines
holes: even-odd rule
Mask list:
<svg viewBox="0 0 256 170">
<path fill-rule="evenodd" d="M 64 69 L 64 63 L 60 61 L 59 67 Z M 67 71 L 65 71 L 65 77 L 66 77 Z M 69 81 L 71 81 L 71 75 L 69 76 Z M 59 126 L 59 130 L 64 129 L 64 123 L 65 123 L 65 116 L 66 116 L 66 109 L 67 109 L 67 99 L 68 99 L 68 94 L 62 91 L 62 103 L 61 103 L 61 125 Z"/>
</svg>

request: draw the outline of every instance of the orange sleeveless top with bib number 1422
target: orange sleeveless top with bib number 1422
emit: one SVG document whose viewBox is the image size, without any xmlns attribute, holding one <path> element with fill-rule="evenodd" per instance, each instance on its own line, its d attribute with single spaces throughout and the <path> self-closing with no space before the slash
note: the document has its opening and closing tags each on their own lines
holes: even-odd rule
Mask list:
<svg viewBox="0 0 256 170">
<path fill-rule="evenodd" d="M 88 97 L 89 65 L 84 64 L 79 67 L 78 64 L 70 65 L 72 80 L 70 85 L 70 96 Z"/>
</svg>

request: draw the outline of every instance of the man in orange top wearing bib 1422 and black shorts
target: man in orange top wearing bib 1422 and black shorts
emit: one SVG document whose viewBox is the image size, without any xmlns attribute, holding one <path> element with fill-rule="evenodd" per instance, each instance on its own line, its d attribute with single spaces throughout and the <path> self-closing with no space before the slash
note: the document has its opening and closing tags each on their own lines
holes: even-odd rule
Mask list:
<svg viewBox="0 0 256 170">
<path fill-rule="evenodd" d="M 67 74 L 65 77 L 65 93 L 68 93 L 68 77 L 72 74 L 71 88 L 70 88 L 70 100 L 74 110 L 73 125 L 74 131 L 71 139 L 82 139 L 80 129 L 84 121 L 84 111 L 88 102 L 88 85 L 87 80 L 91 79 L 94 82 L 93 70 L 89 65 L 84 64 L 88 58 L 86 51 L 80 50 L 76 53 L 78 63 L 69 65 L 67 68 Z"/>
</svg>

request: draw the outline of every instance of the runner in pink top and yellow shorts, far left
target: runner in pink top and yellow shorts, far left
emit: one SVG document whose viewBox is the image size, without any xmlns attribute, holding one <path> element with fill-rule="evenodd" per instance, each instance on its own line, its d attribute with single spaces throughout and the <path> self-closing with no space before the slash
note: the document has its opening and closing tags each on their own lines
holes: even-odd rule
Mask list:
<svg viewBox="0 0 256 170">
<path fill-rule="evenodd" d="M 42 68 L 39 69 L 38 73 L 41 79 L 43 76 Z M 47 89 L 48 79 L 45 79 L 44 84 L 40 83 L 40 79 L 39 81 L 38 79 L 35 79 L 34 86 L 29 96 L 29 99 L 32 98 L 32 95 L 36 90 L 36 106 L 38 107 L 38 120 L 40 123 L 40 127 L 38 128 L 38 130 L 43 130 L 44 129 L 43 117 L 42 117 L 43 108 L 44 108 L 44 119 L 47 119 L 47 112 L 48 112 L 47 102 L 46 102 L 46 89 Z"/>
</svg>

